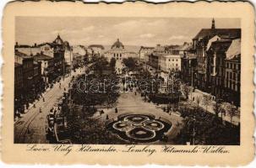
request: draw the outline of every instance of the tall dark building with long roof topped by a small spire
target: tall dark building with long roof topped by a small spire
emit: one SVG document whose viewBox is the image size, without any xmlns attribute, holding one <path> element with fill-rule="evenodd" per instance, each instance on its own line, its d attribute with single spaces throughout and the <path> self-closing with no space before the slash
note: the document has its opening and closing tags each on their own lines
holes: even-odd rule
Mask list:
<svg viewBox="0 0 256 168">
<path fill-rule="evenodd" d="M 214 37 L 234 39 L 240 36 L 241 29 L 215 29 L 215 20 L 213 19 L 211 29 L 201 29 L 193 38 L 193 49 L 198 59 L 196 81 L 199 89 L 210 92 L 210 72 L 207 69 L 208 62 L 206 55 L 209 40 Z"/>
</svg>

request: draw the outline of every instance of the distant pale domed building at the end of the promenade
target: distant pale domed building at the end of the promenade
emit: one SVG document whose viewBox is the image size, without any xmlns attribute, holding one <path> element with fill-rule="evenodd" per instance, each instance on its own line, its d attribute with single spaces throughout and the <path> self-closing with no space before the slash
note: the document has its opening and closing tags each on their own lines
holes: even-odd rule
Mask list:
<svg viewBox="0 0 256 168">
<path fill-rule="evenodd" d="M 123 58 L 137 57 L 138 53 L 133 51 L 125 50 L 123 43 L 117 39 L 117 41 L 112 45 L 111 50 L 105 52 L 105 56 L 108 60 L 115 58 L 116 60 L 123 60 Z"/>
</svg>

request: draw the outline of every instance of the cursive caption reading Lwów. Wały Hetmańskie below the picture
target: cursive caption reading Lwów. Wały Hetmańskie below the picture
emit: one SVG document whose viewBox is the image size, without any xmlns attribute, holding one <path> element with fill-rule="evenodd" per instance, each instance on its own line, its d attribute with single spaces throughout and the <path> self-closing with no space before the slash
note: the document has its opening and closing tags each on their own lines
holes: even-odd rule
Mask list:
<svg viewBox="0 0 256 168">
<path fill-rule="evenodd" d="M 161 148 L 159 148 L 161 147 Z M 62 155 L 69 155 L 73 152 L 102 152 L 102 153 L 133 153 L 143 155 L 155 155 L 157 153 L 166 154 L 228 154 L 230 151 L 226 149 L 226 146 L 174 146 L 174 145 L 90 145 L 90 144 L 28 144 L 26 147 L 30 152 L 57 152 Z"/>
</svg>

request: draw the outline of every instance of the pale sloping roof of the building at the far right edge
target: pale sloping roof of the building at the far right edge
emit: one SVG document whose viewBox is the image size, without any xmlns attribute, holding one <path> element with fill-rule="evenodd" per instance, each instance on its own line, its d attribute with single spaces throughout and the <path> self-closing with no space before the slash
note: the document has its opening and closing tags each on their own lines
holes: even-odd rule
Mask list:
<svg viewBox="0 0 256 168">
<path fill-rule="evenodd" d="M 241 55 L 241 39 L 233 39 L 230 47 L 226 51 L 226 60 L 231 60 L 237 55 Z"/>
</svg>

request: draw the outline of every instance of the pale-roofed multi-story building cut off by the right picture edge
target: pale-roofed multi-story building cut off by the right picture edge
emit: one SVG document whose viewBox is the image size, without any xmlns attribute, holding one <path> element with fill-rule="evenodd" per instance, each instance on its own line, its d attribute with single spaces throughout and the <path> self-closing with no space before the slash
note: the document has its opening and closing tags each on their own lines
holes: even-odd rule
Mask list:
<svg viewBox="0 0 256 168">
<path fill-rule="evenodd" d="M 241 39 L 234 39 L 226 51 L 225 59 L 225 98 L 240 106 L 241 95 Z"/>
</svg>

